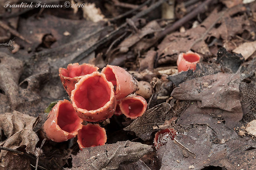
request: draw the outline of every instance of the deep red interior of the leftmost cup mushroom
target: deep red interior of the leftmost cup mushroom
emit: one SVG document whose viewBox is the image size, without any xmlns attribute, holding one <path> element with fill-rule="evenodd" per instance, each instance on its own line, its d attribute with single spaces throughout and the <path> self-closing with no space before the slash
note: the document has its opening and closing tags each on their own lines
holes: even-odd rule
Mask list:
<svg viewBox="0 0 256 170">
<path fill-rule="evenodd" d="M 81 119 L 76 114 L 76 110 L 74 110 L 71 103 L 64 102 L 60 104 L 57 124 L 60 129 L 68 133 L 77 130 L 78 126 L 81 124 Z"/>
</svg>

